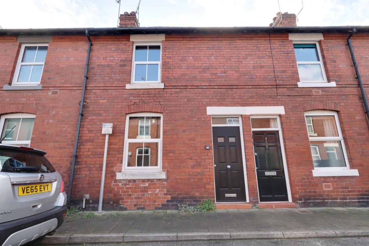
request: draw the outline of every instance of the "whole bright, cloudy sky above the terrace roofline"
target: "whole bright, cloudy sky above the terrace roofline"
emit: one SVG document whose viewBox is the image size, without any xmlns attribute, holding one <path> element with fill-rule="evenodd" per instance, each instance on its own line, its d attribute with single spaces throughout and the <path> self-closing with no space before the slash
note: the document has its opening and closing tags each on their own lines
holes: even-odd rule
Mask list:
<svg viewBox="0 0 369 246">
<path fill-rule="evenodd" d="M 120 14 L 139 0 L 121 0 Z M 300 0 L 279 0 L 282 13 L 299 13 Z M 269 26 L 278 0 L 142 0 L 141 27 Z M 11 28 L 116 27 L 115 0 L 0 0 L 0 26 Z M 369 0 L 303 0 L 298 26 L 369 25 Z"/>
</svg>

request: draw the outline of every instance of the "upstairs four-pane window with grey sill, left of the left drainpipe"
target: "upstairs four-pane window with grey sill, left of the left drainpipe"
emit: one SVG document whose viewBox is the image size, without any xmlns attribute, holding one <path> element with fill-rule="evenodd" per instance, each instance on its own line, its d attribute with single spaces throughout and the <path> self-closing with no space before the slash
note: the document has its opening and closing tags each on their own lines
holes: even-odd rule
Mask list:
<svg viewBox="0 0 369 246">
<path fill-rule="evenodd" d="M 41 82 L 47 49 L 47 44 L 22 45 L 13 85 L 38 85 Z"/>
</svg>

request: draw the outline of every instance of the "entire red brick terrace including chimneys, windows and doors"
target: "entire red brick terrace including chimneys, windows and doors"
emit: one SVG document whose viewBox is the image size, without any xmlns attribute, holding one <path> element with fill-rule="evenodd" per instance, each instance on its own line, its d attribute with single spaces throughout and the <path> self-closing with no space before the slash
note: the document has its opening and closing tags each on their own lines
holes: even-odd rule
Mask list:
<svg viewBox="0 0 369 246">
<path fill-rule="evenodd" d="M 368 206 L 369 27 L 282 17 L 138 27 L 132 12 L 119 28 L 2 29 L 2 136 L 17 126 L 3 143 L 45 150 L 71 204 L 89 209 L 103 123 L 103 209 Z"/>
</svg>

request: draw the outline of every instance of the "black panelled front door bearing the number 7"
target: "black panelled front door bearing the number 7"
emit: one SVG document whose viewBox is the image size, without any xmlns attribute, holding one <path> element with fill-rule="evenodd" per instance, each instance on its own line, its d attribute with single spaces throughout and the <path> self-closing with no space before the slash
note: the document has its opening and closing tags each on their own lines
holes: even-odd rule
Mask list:
<svg viewBox="0 0 369 246">
<path fill-rule="evenodd" d="M 288 201 L 278 131 L 253 131 L 261 202 Z"/>
</svg>

